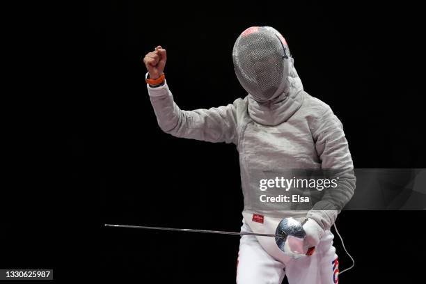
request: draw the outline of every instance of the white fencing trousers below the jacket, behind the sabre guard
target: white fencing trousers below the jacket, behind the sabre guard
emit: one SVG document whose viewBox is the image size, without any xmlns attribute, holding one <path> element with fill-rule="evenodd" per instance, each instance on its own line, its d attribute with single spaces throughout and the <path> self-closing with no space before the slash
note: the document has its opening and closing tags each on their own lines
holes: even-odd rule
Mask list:
<svg viewBox="0 0 426 284">
<path fill-rule="evenodd" d="M 252 232 L 246 223 L 241 231 Z M 237 284 L 281 284 L 284 276 L 290 284 L 336 284 L 339 268 L 333 238 L 326 230 L 313 255 L 276 260 L 260 246 L 255 236 L 243 235 L 239 241 Z"/>
</svg>

